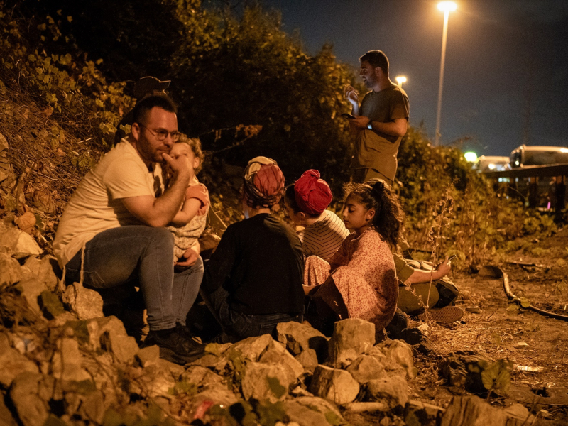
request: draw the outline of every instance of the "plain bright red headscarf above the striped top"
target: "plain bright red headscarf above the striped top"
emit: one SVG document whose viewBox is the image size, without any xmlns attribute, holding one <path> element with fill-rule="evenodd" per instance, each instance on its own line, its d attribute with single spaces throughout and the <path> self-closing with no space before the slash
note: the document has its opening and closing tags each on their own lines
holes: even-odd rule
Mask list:
<svg viewBox="0 0 568 426">
<path fill-rule="evenodd" d="M 307 214 L 321 214 L 332 202 L 332 190 L 325 180 L 320 179 L 320 172 L 307 170 L 294 184 L 294 198 L 300 210 Z"/>
</svg>

